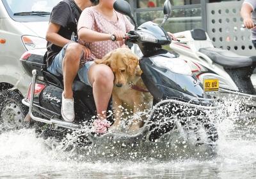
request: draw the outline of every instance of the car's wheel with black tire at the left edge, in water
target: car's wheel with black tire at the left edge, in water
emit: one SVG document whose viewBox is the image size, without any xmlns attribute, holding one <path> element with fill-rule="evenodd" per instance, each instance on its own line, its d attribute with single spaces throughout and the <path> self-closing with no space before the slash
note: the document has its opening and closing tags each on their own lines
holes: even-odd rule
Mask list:
<svg viewBox="0 0 256 179">
<path fill-rule="evenodd" d="M 0 93 L 0 132 L 28 127 L 28 122 L 24 122 L 28 107 L 22 104 L 22 99 L 14 91 L 3 90 Z"/>
</svg>

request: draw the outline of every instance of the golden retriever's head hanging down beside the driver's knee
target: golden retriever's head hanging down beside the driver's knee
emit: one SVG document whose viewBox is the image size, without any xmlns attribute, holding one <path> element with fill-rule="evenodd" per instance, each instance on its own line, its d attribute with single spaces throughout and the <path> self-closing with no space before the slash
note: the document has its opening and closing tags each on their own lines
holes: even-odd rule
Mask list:
<svg viewBox="0 0 256 179">
<path fill-rule="evenodd" d="M 109 52 L 102 60 L 95 60 L 97 64 L 108 65 L 115 74 L 114 85 L 122 87 L 127 84 L 129 78 L 136 75 L 141 75 L 141 70 L 138 67 L 139 59 L 132 54 L 129 48 L 117 48 Z"/>
</svg>

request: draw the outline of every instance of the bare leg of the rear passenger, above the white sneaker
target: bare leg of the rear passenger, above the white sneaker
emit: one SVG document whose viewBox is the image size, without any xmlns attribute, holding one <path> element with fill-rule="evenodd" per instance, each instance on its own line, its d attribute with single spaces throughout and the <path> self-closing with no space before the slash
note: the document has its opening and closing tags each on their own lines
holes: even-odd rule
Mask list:
<svg viewBox="0 0 256 179">
<path fill-rule="evenodd" d="M 63 82 L 64 82 L 64 97 L 66 99 L 73 98 L 72 83 L 76 78 L 79 70 L 81 53 L 83 47 L 78 43 L 68 45 L 65 57 L 63 59 Z"/>
</svg>

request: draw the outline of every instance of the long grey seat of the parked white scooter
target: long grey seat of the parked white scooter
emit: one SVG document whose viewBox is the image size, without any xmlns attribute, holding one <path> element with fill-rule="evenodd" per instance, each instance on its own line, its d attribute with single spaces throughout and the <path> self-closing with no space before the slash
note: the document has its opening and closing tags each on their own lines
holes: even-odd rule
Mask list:
<svg viewBox="0 0 256 179">
<path fill-rule="evenodd" d="M 220 48 L 200 48 L 199 52 L 207 55 L 213 62 L 224 68 L 236 69 L 243 67 L 256 67 L 256 57 L 240 56 L 229 50 Z"/>
</svg>

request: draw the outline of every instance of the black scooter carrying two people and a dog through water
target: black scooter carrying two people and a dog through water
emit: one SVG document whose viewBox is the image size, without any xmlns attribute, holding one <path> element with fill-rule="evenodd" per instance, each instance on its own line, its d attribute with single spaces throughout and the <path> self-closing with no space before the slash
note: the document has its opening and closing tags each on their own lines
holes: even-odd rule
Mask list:
<svg viewBox="0 0 256 179">
<path fill-rule="evenodd" d="M 136 24 L 126 1 L 117 0 L 114 7 L 116 11 L 131 17 Z M 162 27 L 170 12 L 170 1 L 166 0 Z M 191 74 L 186 62 L 163 50 L 162 45 L 168 45 L 172 40 L 162 27 L 153 22 L 145 22 L 140 27 L 136 25 L 135 30 L 130 31 L 125 38 L 127 43 L 138 44 L 143 52 L 140 59 L 143 71 L 141 78 L 154 96 L 155 106 L 144 125 L 145 138 L 141 140 L 157 142 L 168 134 L 172 136 L 173 131 L 185 133 L 186 136 L 186 132 L 192 130 L 198 143 L 204 139 L 203 143 L 213 145 L 218 140 L 218 132 L 205 111 L 214 110 L 218 106 L 209 95 L 204 94 L 202 83 Z M 23 104 L 29 106 L 30 117 L 44 126 L 47 124 L 47 129 L 61 134 L 65 130 L 77 130 L 90 124 L 90 119 L 96 115 L 92 87 L 79 79 L 75 80 L 73 90 L 76 119 L 75 122 L 65 122 L 61 117 L 63 82 L 47 71 L 43 54 L 42 50 L 31 50 L 20 59 L 26 71 L 33 75 L 28 96 L 22 100 Z M 199 130 L 204 131 L 205 138 L 197 136 L 202 133 L 199 134 Z"/>
</svg>

